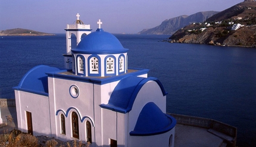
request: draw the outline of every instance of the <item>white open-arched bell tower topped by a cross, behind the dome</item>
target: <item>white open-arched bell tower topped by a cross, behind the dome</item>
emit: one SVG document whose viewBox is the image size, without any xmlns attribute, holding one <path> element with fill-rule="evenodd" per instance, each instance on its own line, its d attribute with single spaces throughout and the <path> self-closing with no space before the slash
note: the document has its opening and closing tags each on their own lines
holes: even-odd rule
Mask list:
<svg viewBox="0 0 256 147">
<path fill-rule="evenodd" d="M 72 68 L 72 55 L 71 55 L 71 35 L 76 36 L 76 45 L 81 41 L 82 35 L 88 35 L 91 33 L 90 24 L 83 24 L 83 21 L 79 19 L 80 15 L 77 13 L 75 24 L 67 24 L 66 31 L 66 43 L 67 43 L 67 53 L 64 54 L 64 65 L 65 68 Z"/>
</svg>

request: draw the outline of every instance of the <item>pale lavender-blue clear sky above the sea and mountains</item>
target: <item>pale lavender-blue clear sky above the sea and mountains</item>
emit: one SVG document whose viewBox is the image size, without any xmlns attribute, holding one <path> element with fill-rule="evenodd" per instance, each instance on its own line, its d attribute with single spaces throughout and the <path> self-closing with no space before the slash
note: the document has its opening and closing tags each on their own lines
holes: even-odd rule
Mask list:
<svg viewBox="0 0 256 147">
<path fill-rule="evenodd" d="M 200 11 L 223 11 L 243 0 L 0 0 L 0 30 L 30 29 L 65 33 L 67 24 L 79 13 L 92 32 L 138 33 L 159 26 L 162 21 Z"/>
</svg>

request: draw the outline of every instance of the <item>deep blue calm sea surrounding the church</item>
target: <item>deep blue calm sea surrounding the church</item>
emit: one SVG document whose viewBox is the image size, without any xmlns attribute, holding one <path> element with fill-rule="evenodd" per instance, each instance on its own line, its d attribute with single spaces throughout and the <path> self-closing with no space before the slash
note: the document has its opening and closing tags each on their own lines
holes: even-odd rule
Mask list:
<svg viewBox="0 0 256 147">
<path fill-rule="evenodd" d="M 167 112 L 230 124 L 238 128 L 236 145 L 256 146 L 256 48 L 115 36 L 129 49 L 128 68 L 149 69 L 148 76 L 162 82 Z M 0 98 L 14 98 L 13 87 L 36 65 L 64 68 L 65 52 L 65 34 L 0 36 Z"/>
</svg>

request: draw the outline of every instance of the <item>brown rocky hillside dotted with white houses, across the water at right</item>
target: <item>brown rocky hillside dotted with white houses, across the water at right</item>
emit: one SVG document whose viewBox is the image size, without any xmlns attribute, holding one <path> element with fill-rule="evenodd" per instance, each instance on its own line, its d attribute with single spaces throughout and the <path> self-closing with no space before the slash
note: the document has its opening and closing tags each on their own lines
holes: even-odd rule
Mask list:
<svg viewBox="0 0 256 147">
<path fill-rule="evenodd" d="M 170 42 L 226 46 L 256 45 L 256 2 L 241 2 L 221 11 L 204 23 L 177 30 Z"/>
</svg>

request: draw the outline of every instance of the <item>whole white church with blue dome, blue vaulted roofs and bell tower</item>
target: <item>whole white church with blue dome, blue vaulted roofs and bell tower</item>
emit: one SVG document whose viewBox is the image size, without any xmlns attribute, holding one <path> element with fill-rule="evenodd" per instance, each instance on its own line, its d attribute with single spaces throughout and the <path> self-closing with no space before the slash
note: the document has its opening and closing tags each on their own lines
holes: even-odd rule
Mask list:
<svg viewBox="0 0 256 147">
<path fill-rule="evenodd" d="M 77 14 L 65 29 L 65 69 L 38 65 L 14 87 L 18 129 L 90 146 L 174 146 L 176 120 L 160 80 L 128 68 L 129 49 L 98 24 L 91 33 Z"/>
</svg>

